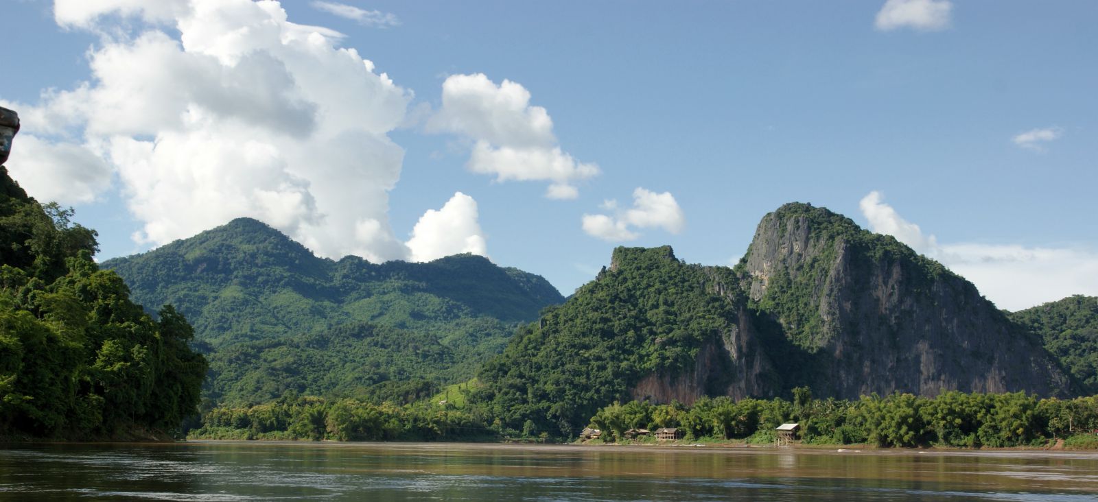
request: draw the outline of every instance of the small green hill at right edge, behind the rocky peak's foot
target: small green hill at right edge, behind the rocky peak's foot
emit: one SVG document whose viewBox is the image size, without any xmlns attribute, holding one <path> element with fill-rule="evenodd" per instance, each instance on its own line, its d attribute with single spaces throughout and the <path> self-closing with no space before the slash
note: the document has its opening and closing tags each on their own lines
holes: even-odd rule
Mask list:
<svg viewBox="0 0 1098 502">
<path fill-rule="evenodd" d="M 1098 297 L 1075 295 L 1009 315 L 1041 335 L 1049 350 L 1085 391 L 1098 393 Z"/>
</svg>

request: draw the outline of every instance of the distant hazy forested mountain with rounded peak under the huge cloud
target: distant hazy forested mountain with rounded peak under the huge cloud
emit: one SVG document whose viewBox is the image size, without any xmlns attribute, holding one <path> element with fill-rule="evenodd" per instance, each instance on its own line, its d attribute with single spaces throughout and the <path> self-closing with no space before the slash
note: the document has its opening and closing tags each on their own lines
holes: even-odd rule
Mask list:
<svg viewBox="0 0 1098 502">
<path fill-rule="evenodd" d="M 231 403 L 468 379 L 519 323 L 563 301 L 545 278 L 483 256 L 333 261 L 250 218 L 102 266 L 135 301 L 191 320 L 210 357 L 206 395 Z"/>
</svg>

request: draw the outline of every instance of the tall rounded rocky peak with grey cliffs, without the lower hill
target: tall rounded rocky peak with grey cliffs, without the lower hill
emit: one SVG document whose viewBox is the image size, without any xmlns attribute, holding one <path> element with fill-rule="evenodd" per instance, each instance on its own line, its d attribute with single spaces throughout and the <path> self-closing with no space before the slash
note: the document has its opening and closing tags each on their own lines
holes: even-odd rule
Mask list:
<svg viewBox="0 0 1098 502">
<path fill-rule="evenodd" d="M 738 271 L 809 362 L 788 369 L 808 369 L 817 395 L 1071 392 L 1040 341 L 972 283 L 825 208 L 766 215 Z"/>
</svg>

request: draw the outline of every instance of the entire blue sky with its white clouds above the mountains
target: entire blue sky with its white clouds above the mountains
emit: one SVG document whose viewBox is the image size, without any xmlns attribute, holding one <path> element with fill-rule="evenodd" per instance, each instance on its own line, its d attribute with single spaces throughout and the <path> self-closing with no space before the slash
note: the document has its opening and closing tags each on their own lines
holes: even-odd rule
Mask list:
<svg viewBox="0 0 1098 502">
<path fill-rule="evenodd" d="M 24 119 L 13 175 L 98 229 L 101 260 L 253 216 L 322 254 L 473 251 L 569 294 L 618 244 L 735 263 L 799 201 L 1004 308 L 1098 295 L 1091 1 L 90 3 L 0 3 L 0 103 Z M 306 26 L 294 50 L 224 36 L 278 9 Z M 328 70 L 354 78 L 306 82 Z M 288 116 L 306 125 L 270 125 Z"/>
</svg>

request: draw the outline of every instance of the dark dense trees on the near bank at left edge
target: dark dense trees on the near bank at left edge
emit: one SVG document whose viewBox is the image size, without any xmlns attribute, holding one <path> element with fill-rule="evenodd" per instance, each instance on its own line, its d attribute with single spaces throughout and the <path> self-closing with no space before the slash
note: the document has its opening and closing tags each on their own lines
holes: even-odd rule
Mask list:
<svg viewBox="0 0 1098 502">
<path fill-rule="evenodd" d="M 126 437 L 194 414 L 206 372 L 172 307 L 149 317 L 91 260 L 96 232 L 0 167 L 0 437 Z"/>
</svg>

